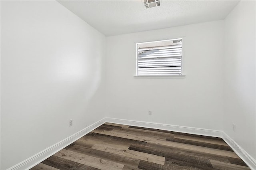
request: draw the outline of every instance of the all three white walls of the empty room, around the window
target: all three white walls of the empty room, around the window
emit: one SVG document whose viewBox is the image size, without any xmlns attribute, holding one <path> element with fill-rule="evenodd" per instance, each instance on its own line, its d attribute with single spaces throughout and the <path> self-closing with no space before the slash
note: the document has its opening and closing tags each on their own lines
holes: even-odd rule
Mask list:
<svg viewBox="0 0 256 170">
<path fill-rule="evenodd" d="M 1 1 L 1 169 L 105 116 L 224 130 L 256 158 L 255 6 L 105 39 L 58 2 Z M 180 37 L 185 77 L 134 78 L 137 42 Z"/>
</svg>

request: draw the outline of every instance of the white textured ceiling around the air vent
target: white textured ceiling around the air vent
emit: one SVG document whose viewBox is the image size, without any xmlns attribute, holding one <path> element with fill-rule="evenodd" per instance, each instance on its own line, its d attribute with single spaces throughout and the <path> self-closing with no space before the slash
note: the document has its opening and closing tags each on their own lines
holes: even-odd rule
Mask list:
<svg viewBox="0 0 256 170">
<path fill-rule="evenodd" d="M 60 0 L 106 36 L 222 20 L 238 4 L 233 0 L 160 0 L 146 9 L 142 0 Z"/>
</svg>

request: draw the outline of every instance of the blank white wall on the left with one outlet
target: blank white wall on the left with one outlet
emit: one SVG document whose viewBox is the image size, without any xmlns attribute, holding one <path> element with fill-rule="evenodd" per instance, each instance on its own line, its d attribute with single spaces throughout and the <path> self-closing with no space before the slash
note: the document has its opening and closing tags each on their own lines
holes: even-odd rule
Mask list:
<svg viewBox="0 0 256 170">
<path fill-rule="evenodd" d="M 105 43 L 56 1 L 1 1 L 1 170 L 105 117 Z"/>
</svg>

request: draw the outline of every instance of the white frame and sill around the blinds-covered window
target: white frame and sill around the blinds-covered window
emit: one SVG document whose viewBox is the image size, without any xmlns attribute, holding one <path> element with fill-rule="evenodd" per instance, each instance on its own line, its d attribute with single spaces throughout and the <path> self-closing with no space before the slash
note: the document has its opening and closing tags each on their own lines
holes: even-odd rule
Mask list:
<svg viewBox="0 0 256 170">
<path fill-rule="evenodd" d="M 182 40 L 182 47 L 181 47 L 181 71 L 180 74 L 177 75 L 173 75 L 173 74 L 156 74 L 156 75 L 152 75 L 152 74 L 146 74 L 146 75 L 138 75 L 138 45 L 139 44 L 145 44 L 145 43 L 157 43 L 157 42 L 167 42 L 167 41 L 174 41 L 174 40 Z M 140 43 L 136 43 L 136 75 L 135 77 L 182 77 L 184 76 L 183 74 L 183 38 L 175 38 L 175 39 L 169 39 L 169 40 L 159 40 L 159 41 L 152 41 L 152 42 L 140 42 Z"/>
</svg>

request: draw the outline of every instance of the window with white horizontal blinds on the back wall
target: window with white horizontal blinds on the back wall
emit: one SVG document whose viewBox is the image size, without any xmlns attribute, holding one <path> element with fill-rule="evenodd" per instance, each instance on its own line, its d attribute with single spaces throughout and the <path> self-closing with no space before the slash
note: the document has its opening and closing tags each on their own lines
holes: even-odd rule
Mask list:
<svg viewBox="0 0 256 170">
<path fill-rule="evenodd" d="M 182 75 L 182 38 L 136 45 L 137 75 Z"/>
</svg>

